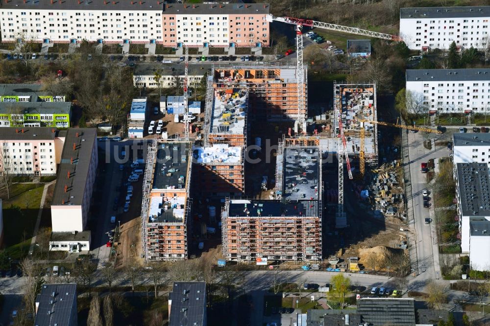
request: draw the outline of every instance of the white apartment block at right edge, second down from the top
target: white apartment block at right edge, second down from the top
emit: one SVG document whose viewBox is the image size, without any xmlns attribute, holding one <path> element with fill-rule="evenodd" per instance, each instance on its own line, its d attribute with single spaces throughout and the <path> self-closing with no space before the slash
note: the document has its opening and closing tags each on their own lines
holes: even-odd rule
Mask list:
<svg viewBox="0 0 490 326">
<path fill-rule="evenodd" d="M 490 112 L 490 69 L 407 70 L 406 90 L 431 113 Z"/>
</svg>

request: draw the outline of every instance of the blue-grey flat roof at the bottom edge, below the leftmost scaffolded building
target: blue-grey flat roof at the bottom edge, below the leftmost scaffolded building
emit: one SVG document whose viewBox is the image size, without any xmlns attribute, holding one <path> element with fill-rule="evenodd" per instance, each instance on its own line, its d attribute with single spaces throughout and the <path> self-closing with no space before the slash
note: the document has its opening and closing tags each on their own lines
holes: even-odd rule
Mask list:
<svg viewBox="0 0 490 326">
<path fill-rule="evenodd" d="M 169 326 L 203 326 L 206 320 L 206 282 L 173 282 Z"/>
</svg>

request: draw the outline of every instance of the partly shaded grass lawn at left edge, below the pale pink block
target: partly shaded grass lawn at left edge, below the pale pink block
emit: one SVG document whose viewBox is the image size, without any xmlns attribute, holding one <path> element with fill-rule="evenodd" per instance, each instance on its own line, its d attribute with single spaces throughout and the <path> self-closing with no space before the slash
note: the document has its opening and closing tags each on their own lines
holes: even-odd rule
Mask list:
<svg viewBox="0 0 490 326">
<path fill-rule="evenodd" d="M 10 199 L 2 191 L 4 244 L 9 256 L 18 259 L 27 254 L 43 195 L 44 185 L 13 184 Z"/>
</svg>

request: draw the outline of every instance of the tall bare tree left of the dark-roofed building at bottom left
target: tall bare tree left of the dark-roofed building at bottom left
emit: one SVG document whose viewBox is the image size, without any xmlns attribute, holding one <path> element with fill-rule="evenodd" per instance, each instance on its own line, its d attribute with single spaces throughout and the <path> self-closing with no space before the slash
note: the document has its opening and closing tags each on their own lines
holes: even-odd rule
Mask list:
<svg viewBox="0 0 490 326">
<path fill-rule="evenodd" d="M 26 310 L 35 316 L 36 314 L 36 297 L 43 285 L 43 278 L 39 265 L 33 260 L 25 258 L 21 262 L 21 269 L 24 274 L 24 304 Z"/>
</svg>

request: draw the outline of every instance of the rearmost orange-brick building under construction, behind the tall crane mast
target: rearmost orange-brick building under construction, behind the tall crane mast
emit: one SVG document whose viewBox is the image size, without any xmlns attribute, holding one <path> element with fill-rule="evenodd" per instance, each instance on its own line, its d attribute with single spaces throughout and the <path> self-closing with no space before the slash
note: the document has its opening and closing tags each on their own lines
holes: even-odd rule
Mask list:
<svg viewBox="0 0 490 326">
<path fill-rule="evenodd" d="M 305 66 L 304 92 L 308 94 Z M 248 89 L 249 113 L 255 120 L 294 122 L 298 118 L 298 88 L 295 65 L 243 63 L 215 66 L 213 87 Z M 307 96 L 305 97 L 307 99 Z M 306 116 L 305 100 L 300 114 Z"/>
</svg>

